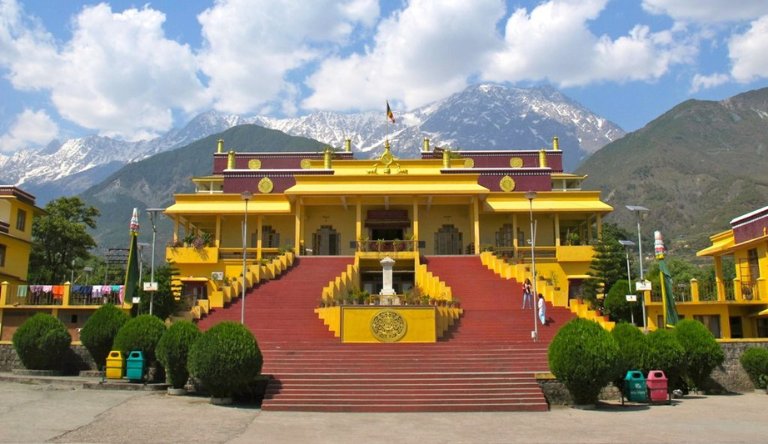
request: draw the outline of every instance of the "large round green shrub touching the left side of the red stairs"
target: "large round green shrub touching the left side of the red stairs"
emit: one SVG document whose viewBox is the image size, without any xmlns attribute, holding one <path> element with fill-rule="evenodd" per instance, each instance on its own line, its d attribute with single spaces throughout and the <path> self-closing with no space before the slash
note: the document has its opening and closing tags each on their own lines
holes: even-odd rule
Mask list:
<svg viewBox="0 0 768 444">
<path fill-rule="evenodd" d="M 189 373 L 211 396 L 225 398 L 253 381 L 264 361 L 247 328 L 222 322 L 192 344 L 188 362 Z"/>
</svg>

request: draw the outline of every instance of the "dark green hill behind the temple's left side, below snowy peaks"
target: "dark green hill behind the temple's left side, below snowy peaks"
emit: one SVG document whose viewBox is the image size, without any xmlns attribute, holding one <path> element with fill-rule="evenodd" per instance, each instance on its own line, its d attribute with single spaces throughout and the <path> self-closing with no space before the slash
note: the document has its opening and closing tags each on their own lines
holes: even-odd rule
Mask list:
<svg viewBox="0 0 768 444">
<path fill-rule="evenodd" d="M 216 141 L 224 140 L 226 151 L 321 151 L 325 145 L 304 137 L 257 125 L 241 125 L 193 142 L 173 151 L 156 154 L 126 165 L 103 182 L 81 194 L 89 205 L 101 211 L 94 238 L 102 249 L 128 246 L 128 224 L 133 208 L 144 210 L 167 207 L 175 193 L 194 190 L 191 178 L 211 174 Z M 157 248 L 161 250 L 171 237 L 172 224 L 160 218 Z M 146 214 L 140 217 L 140 242 L 152 240 L 152 228 Z M 158 252 L 159 253 L 159 252 Z M 97 253 L 100 254 L 100 253 Z M 158 257 L 163 257 L 158 256 Z M 146 256 L 149 258 L 149 255 Z"/>
</svg>

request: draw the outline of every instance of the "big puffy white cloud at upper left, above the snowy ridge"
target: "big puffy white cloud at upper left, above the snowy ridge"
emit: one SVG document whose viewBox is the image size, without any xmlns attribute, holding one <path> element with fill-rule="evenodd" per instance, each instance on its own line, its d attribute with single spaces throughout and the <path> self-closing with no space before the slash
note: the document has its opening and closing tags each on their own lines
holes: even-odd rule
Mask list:
<svg viewBox="0 0 768 444">
<path fill-rule="evenodd" d="M 174 109 L 191 113 L 208 103 L 194 55 L 165 38 L 164 21 L 148 7 L 85 7 L 60 49 L 47 34 L 17 26 L 2 62 L 14 87 L 49 90 L 67 120 L 102 135 L 146 138 L 172 127 Z"/>
</svg>

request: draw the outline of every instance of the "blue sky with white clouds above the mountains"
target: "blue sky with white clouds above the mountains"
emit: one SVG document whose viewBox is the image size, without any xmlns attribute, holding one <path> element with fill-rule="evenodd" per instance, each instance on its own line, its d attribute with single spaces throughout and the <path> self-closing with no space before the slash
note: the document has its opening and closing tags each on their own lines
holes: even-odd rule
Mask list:
<svg viewBox="0 0 768 444">
<path fill-rule="evenodd" d="M 768 86 L 766 0 L 0 0 L 0 155 L 551 85 L 627 131 Z"/>
</svg>

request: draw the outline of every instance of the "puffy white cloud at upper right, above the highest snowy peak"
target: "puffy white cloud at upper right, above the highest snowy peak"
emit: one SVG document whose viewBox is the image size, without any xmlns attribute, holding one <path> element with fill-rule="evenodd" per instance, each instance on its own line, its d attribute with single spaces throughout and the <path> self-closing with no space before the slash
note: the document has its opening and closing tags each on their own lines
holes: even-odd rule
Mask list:
<svg viewBox="0 0 768 444">
<path fill-rule="evenodd" d="M 596 36 L 588 23 L 607 0 L 552 0 L 516 10 L 507 21 L 505 48 L 493 54 L 484 78 L 547 80 L 561 87 L 601 81 L 653 81 L 673 64 L 692 59 L 696 47 L 673 31 L 637 25 L 615 40 Z"/>
</svg>

